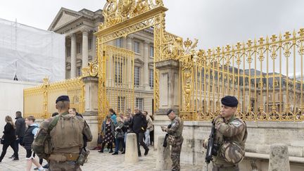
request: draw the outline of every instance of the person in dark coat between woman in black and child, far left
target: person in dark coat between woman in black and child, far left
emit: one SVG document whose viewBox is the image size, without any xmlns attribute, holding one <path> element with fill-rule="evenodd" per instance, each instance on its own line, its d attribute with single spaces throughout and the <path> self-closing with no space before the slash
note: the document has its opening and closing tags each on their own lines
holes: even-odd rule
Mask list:
<svg viewBox="0 0 304 171">
<path fill-rule="evenodd" d="M 15 113 L 15 148 L 18 153 L 19 151 L 19 144 L 22 143 L 23 137 L 25 134 L 25 119 L 22 117 L 22 113 L 20 111 L 17 111 Z M 14 156 L 11 156 L 10 158 L 14 158 Z"/>
</svg>

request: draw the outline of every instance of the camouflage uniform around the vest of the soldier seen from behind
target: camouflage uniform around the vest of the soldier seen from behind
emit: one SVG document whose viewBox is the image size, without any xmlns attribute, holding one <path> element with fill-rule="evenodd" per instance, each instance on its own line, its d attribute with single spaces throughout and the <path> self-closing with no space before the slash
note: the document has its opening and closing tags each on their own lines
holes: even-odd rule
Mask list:
<svg viewBox="0 0 304 171">
<path fill-rule="evenodd" d="M 61 115 L 71 115 L 68 112 L 62 113 Z M 75 116 L 77 117 L 77 116 Z M 43 134 L 48 132 L 49 125 L 51 125 L 51 122 L 55 119 L 55 117 L 49 118 L 48 120 L 45 120 L 42 122 L 42 125 L 40 126 L 40 130 L 37 134 L 36 139 L 41 139 L 44 137 Z M 92 135 L 91 130 L 89 129 L 89 126 L 87 125 L 87 122 L 85 122 L 82 118 L 77 117 L 78 120 L 80 120 L 83 125 L 79 125 L 80 129 L 82 129 L 82 136 L 86 137 L 87 141 L 91 141 Z M 52 131 L 55 129 L 55 127 L 52 129 Z M 52 139 L 52 132 L 50 133 L 51 139 Z M 83 146 L 83 142 L 82 142 Z M 71 147 L 71 148 L 60 148 L 57 150 L 53 150 L 51 152 L 51 156 L 49 157 L 49 168 L 52 171 L 61 171 L 61 170 L 81 170 L 80 165 L 76 163 L 76 160 L 79 156 L 80 149 L 82 147 Z M 58 161 L 57 159 L 65 158 L 65 161 Z M 56 159 L 56 160 L 54 160 Z"/>
</svg>

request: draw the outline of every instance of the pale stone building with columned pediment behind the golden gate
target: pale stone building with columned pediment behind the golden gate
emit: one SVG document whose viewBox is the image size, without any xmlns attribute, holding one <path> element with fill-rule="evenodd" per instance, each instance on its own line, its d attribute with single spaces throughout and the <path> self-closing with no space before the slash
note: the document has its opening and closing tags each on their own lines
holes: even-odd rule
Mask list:
<svg viewBox="0 0 304 171">
<path fill-rule="evenodd" d="M 96 37 L 93 33 L 101 22 L 102 10 L 72 11 L 61 8 L 54 18 L 49 30 L 65 34 L 66 79 L 80 76 L 81 69 L 96 58 Z M 153 113 L 153 28 L 108 44 L 134 51 L 134 103 L 139 109 Z"/>
</svg>

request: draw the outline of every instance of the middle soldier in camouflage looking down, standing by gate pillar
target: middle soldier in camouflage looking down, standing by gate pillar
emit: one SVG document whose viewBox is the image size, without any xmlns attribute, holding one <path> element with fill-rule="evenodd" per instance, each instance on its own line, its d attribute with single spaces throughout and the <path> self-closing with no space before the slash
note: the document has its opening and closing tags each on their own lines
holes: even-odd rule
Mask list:
<svg viewBox="0 0 304 171">
<path fill-rule="evenodd" d="M 167 132 L 169 134 L 169 137 L 167 138 L 167 144 L 170 144 L 172 146 L 172 171 L 179 171 L 180 153 L 182 151 L 182 143 L 184 141 L 184 138 L 182 137 L 184 122 L 181 120 L 181 118 L 175 115 L 172 109 L 167 112 L 167 116 L 172 121 L 170 124 L 171 127 L 161 127 L 161 129 L 163 130 L 163 132 Z"/>
</svg>

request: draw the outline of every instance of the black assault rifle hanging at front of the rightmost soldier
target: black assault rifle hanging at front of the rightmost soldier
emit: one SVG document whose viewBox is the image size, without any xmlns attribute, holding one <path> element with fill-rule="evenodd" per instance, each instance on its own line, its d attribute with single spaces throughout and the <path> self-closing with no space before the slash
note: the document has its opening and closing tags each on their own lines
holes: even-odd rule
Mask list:
<svg viewBox="0 0 304 171">
<path fill-rule="evenodd" d="M 213 156 L 217 156 L 217 150 L 219 148 L 218 144 L 215 144 L 215 123 L 213 123 L 213 126 L 211 128 L 211 133 L 209 135 L 208 139 L 208 147 L 207 147 L 207 153 L 205 156 L 205 163 L 207 163 L 207 170 L 208 170 L 208 164 L 211 160 L 213 160 Z"/>
</svg>

